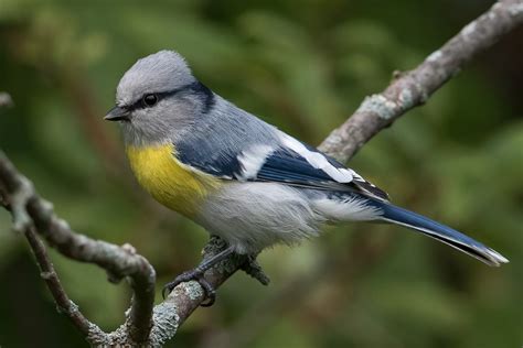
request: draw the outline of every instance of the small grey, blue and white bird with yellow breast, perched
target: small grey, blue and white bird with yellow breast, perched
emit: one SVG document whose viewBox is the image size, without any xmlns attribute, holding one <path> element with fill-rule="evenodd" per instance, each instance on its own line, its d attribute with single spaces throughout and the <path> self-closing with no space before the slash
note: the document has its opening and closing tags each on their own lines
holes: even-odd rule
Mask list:
<svg viewBox="0 0 523 348">
<path fill-rule="evenodd" d="M 105 119 L 120 123 L 141 186 L 228 244 L 164 291 L 196 280 L 211 305 L 215 293 L 203 273 L 217 262 L 296 244 L 340 221 L 392 222 L 489 265 L 509 262 L 450 227 L 392 205 L 353 170 L 220 97 L 177 52 L 151 54 L 127 70 Z"/>
</svg>

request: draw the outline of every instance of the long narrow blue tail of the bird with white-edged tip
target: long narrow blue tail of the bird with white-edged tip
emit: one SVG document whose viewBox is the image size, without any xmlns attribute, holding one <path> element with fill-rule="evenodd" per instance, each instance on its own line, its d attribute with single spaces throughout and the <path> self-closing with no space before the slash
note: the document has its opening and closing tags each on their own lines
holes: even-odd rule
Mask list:
<svg viewBox="0 0 523 348">
<path fill-rule="evenodd" d="M 401 225 L 419 231 L 428 237 L 437 239 L 449 244 L 469 255 L 489 264 L 500 265 L 506 263 L 506 260 L 499 252 L 483 246 L 470 237 L 451 229 L 448 226 L 436 222 L 419 214 L 396 207 L 388 203 L 372 199 L 372 205 L 383 211 L 381 219 L 387 222 Z"/>
</svg>

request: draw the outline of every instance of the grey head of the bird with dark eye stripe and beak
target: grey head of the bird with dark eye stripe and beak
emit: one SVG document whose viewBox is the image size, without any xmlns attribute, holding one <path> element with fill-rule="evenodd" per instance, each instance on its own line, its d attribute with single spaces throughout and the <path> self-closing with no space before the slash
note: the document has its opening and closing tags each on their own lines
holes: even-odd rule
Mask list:
<svg viewBox="0 0 523 348">
<path fill-rule="evenodd" d="M 212 91 L 198 81 L 180 54 L 160 51 L 125 73 L 116 106 L 105 119 L 121 124 L 128 144 L 161 144 L 190 131 L 210 98 Z"/>
</svg>

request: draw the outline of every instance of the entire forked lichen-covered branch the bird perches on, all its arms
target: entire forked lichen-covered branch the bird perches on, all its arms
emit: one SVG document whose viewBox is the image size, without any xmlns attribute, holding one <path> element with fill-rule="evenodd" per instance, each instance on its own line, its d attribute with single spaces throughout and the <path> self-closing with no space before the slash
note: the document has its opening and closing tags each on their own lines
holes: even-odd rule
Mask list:
<svg viewBox="0 0 523 348">
<path fill-rule="evenodd" d="M 365 98 L 354 115 L 334 130 L 320 149 L 341 161 L 349 160 L 383 128 L 392 124 L 407 110 L 424 104 L 467 62 L 522 22 L 521 0 L 497 2 L 418 67 L 397 74 L 384 91 Z M 130 246 L 118 247 L 73 231 L 64 220 L 54 215 L 51 204 L 36 194 L 32 184 L 1 151 L 0 194 L 0 204 L 10 209 L 13 216 L 14 229 L 24 232 L 30 241 L 42 276 L 60 308 L 90 344 L 162 345 L 175 335 L 180 325 L 204 301 L 201 286 L 196 282 L 189 282 L 177 286 L 166 301 L 153 307 L 156 274 L 150 263 Z M 126 322 L 117 330 L 110 334 L 102 331 L 71 302 L 35 232 L 62 254 L 105 269 L 111 282 L 129 278 L 134 292 L 132 302 Z M 223 248 L 223 241 L 212 238 L 203 251 L 203 258 L 210 258 Z M 267 282 L 259 268 L 247 261 L 249 260 L 239 257 L 230 258 L 209 270 L 205 279 L 217 289 L 234 272 L 244 269 L 262 282 Z"/>
</svg>

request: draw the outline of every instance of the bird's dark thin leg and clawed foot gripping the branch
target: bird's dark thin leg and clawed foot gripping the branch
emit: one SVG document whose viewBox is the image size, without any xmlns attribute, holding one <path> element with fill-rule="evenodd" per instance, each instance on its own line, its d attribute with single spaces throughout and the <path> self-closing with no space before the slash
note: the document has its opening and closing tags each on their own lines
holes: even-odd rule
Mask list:
<svg viewBox="0 0 523 348">
<path fill-rule="evenodd" d="M 163 286 L 162 295 L 166 298 L 167 294 L 170 294 L 174 287 L 177 287 L 180 283 L 189 282 L 189 281 L 196 281 L 205 291 L 205 295 L 207 302 L 202 303 L 201 306 L 209 307 L 214 304 L 216 300 L 216 291 L 214 287 L 203 278 L 203 274 L 209 269 L 213 268 L 216 263 L 225 260 L 232 253 L 234 253 L 234 248 L 228 247 L 216 253 L 215 255 L 204 259 L 195 269 L 183 272 L 182 274 L 178 275 L 172 282 L 167 283 Z"/>
</svg>

